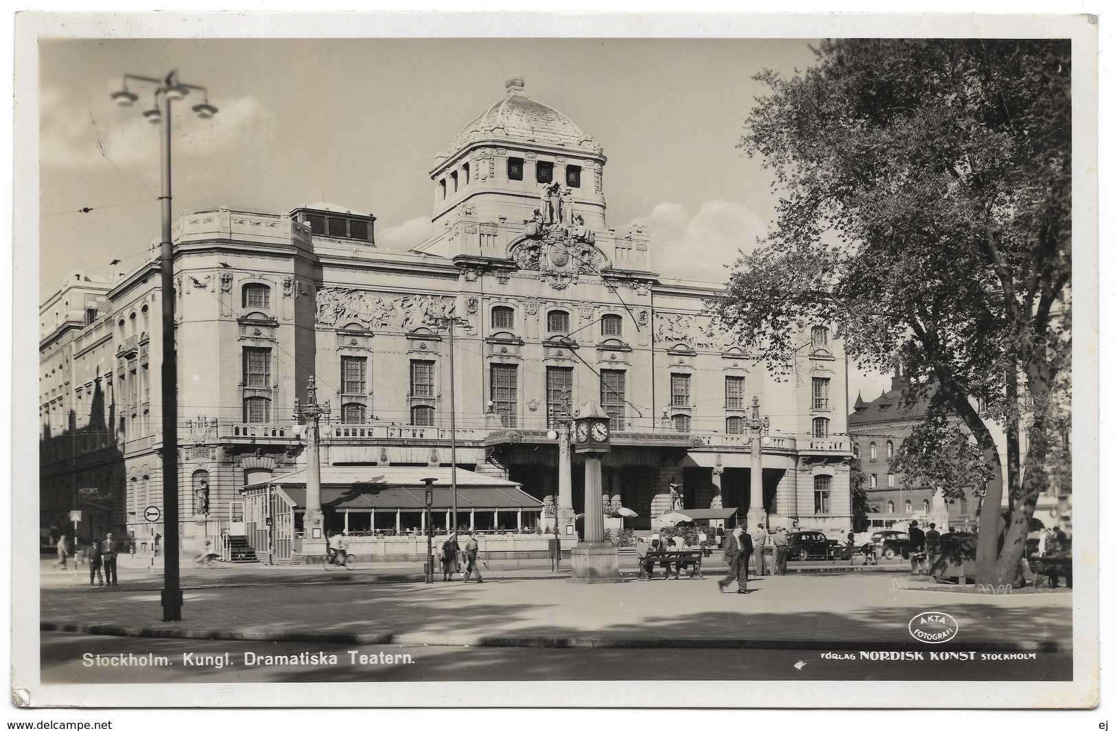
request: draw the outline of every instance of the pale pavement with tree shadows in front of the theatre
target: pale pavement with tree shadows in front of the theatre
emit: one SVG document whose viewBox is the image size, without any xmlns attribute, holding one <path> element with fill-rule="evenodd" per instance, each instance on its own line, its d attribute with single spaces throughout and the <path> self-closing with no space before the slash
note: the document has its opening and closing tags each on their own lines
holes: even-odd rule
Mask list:
<svg viewBox="0 0 1115 731">
<path fill-rule="evenodd" d="M 484 584 L 401 583 L 407 573 L 240 566 L 183 571 L 183 620 L 162 621 L 162 577 L 122 567 L 117 587 L 75 584 L 43 569 L 40 628 L 151 637 L 518 647 L 823 647 L 831 650 L 1072 649 L 1072 592 L 983 595 L 929 586 L 904 572 L 767 576 L 750 594 L 720 594 L 715 579 L 582 585 L 543 581 L 544 562 L 500 566 Z M 565 566 L 563 566 L 564 568 Z M 70 569 L 72 571 L 72 568 Z M 566 568 L 568 571 L 568 568 Z M 706 572 L 707 574 L 708 572 Z M 562 572 L 561 577 L 568 576 Z M 392 577 L 387 583 L 385 577 Z M 77 601 L 75 601 L 77 600 Z M 915 642 L 919 613 L 959 626 L 947 646 Z"/>
</svg>

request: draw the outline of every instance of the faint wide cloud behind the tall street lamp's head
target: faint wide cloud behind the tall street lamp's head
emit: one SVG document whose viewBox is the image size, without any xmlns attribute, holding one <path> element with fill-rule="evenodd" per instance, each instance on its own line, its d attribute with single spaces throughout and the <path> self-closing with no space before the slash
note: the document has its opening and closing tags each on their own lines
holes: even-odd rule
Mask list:
<svg viewBox="0 0 1115 731">
<path fill-rule="evenodd" d="M 231 152 L 263 154 L 275 128 L 275 117 L 255 97 L 224 99 L 212 119 L 201 119 L 191 107 L 201 99 L 175 105 L 172 131 L 174 155 L 225 159 Z M 80 104 L 57 88 L 39 94 L 39 159 L 43 165 L 89 168 L 109 163 L 151 168 L 158 154 L 159 128 L 144 120 L 151 103 L 119 107 L 110 101 Z M 254 153 L 253 153 L 254 150 Z M 157 175 L 157 168 L 156 168 Z"/>
</svg>

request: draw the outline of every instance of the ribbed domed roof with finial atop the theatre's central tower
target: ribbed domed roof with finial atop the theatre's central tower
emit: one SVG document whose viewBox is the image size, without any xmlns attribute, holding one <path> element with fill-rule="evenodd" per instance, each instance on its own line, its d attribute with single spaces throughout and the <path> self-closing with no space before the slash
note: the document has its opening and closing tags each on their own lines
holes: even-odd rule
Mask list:
<svg viewBox="0 0 1115 731">
<path fill-rule="evenodd" d="M 525 142 L 562 147 L 589 147 L 599 152 L 592 138 L 582 133 L 569 117 L 523 94 L 523 79 L 507 79 L 507 96 L 487 111 L 468 123 L 449 144 L 447 157 L 467 147 L 469 143 L 492 137 L 511 137 Z"/>
</svg>

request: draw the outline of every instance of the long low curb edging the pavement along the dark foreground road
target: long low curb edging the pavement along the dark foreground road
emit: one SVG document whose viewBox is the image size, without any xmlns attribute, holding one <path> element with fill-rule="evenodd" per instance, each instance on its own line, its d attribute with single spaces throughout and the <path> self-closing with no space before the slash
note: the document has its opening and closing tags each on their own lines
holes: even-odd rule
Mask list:
<svg viewBox="0 0 1115 731">
<path fill-rule="evenodd" d="M 725 637 L 537 637 L 502 635 L 444 635 L 430 632 L 365 634 L 356 632 L 241 632 L 125 627 L 114 624 L 61 624 L 40 622 L 40 632 L 69 632 L 117 637 L 178 640 L 233 640 L 262 642 L 317 642 L 322 644 L 429 645 L 444 647 L 533 647 L 565 649 L 675 649 L 675 650 L 831 650 L 888 652 L 895 647 L 921 647 L 925 652 L 1072 652 L 1072 642 L 959 642 L 948 647 L 927 647 L 914 640 L 863 642 L 827 640 L 746 640 Z"/>
</svg>

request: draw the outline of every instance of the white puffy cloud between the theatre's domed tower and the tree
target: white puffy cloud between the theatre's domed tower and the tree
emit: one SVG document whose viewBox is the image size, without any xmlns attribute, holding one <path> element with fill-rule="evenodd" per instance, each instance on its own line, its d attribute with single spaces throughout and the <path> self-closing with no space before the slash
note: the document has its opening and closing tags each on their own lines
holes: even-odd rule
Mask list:
<svg viewBox="0 0 1115 731">
<path fill-rule="evenodd" d="M 650 236 L 651 267 L 667 277 L 724 282 L 726 269 L 739 252 L 755 248 L 766 235 L 766 224 L 746 206 L 728 201 L 707 201 L 697 215 L 685 206 L 660 203 L 650 215 L 636 218 Z"/>
</svg>

